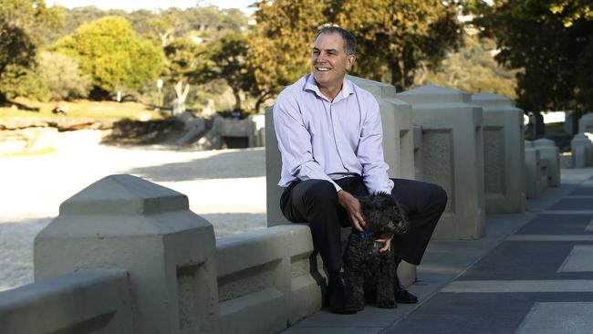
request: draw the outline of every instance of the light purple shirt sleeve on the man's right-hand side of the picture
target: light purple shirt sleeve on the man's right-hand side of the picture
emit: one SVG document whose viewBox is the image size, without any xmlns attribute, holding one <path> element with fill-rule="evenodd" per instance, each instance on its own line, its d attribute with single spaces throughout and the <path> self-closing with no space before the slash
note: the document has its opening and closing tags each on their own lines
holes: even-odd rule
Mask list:
<svg viewBox="0 0 593 334">
<path fill-rule="evenodd" d="M 383 130 L 379 104 L 375 99 L 367 99 L 369 110 L 363 120 L 357 156 L 362 164 L 362 177 L 369 193 L 391 193 L 389 166 L 383 159 Z"/>
</svg>

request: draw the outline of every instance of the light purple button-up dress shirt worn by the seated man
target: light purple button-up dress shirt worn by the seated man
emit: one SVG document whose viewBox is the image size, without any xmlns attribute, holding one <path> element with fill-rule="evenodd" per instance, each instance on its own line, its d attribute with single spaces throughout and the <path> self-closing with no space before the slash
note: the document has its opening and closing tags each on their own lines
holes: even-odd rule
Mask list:
<svg viewBox="0 0 593 334">
<path fill-rule="evenodd" d="M 300 78 L 278 95 L 274 126 L 282 153 L 281 187 L 296 179 L 317 179 L 339 191 L 334 179 L 359 174 L 369 193 L 391 193 L 379 104 L 349 79 L 329 101 L 312 74 Z"/>
</svg>

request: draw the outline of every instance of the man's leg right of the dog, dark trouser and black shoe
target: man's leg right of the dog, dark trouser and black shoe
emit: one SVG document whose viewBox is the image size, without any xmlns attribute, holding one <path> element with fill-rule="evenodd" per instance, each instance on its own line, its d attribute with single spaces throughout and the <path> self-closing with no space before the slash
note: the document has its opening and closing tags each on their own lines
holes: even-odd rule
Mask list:
<svg viewBox="0 0 593 334">
<path fill-rule="evenodd" d="M 432 232 L 444 212 L 447 193 L 441 186 L 413 180 L 392 179 L 391 195 L 404 207 L 410 221 L 410 231 L 393 237 L 391 247 L 397 270 L 401 259 L 413 265 L 420 265 L 424 251 L 431 240 Z M 400 284 L 396 272 L 396 301 L 416 303 L 418 298 Z"/>
</svg>

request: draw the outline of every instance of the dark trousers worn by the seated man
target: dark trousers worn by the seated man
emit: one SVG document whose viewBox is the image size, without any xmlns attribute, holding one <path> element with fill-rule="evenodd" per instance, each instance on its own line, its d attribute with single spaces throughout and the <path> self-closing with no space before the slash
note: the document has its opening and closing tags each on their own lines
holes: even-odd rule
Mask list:
<svg viewBox="0 0 593 334">
<path fill-rule="evenodd" d="M 393 237 L 391 249 L 394 256 L 419 265 L 447 204 L 447 193 L 433 183 L 391 180 L 394 183 L 391 195 L 406 210 L 411 224 L 407 234 Z M 348 177 L 336 183 L 355 196 L 369 194 L 361 177 Z M 343 266 L 340 228 L 351 224 L 346 210 L 338 204 L 338 193 L 332 183 L 325 180 L 290 183 L 282 193 L 280 208 L 289 221 L 309 224 L 313 245 L 328 270 Z"/>
</svg>

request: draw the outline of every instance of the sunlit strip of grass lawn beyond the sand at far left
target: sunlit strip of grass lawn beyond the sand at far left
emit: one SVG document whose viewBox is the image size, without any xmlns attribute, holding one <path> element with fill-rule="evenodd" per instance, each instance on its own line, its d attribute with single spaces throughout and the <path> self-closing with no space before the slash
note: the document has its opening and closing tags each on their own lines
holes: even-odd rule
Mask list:
<svg viewBox="0 0 593 334">
<path fill-rule="evenodd" d="M 0 120 L 11 117 L 52 117 L 52 118 L 81 118 L 93 120 L 158 120 L 163 115 L 159 111 L 138 102 L 89 101 L 86 99 L 74 102 L 60 102 L 68 108 L 68 114 L 54 114 L 52 110 L 56 102 L 39 102 L 27 99 L 16 99 L 16 103 L 28 108 L 38 108 L 39 111 L 18 110 L 11 107 L 0 107 Z"/>
</svg>

